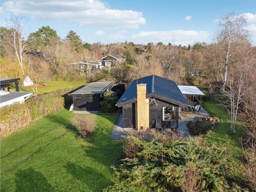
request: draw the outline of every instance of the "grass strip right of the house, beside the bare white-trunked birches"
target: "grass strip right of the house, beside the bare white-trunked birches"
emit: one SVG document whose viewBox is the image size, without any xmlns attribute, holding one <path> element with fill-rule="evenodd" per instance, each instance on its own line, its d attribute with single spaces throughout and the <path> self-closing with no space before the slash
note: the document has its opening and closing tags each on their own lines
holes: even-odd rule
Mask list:
<svg viewBox="0 0 256 192">
<path fill-rule="evenodd" d="M 243 163 L 241 161 L 243 150 L 241 146 L 241 137 L 243 135 L 243 122 L 238 122 L 236 132 L 230 134 L 230 119 L 225 108 L 221 107 L 217 100 L 203 102 L 203 107 L 211 116 L 216 116 L 220 120 L 218 127 L 206 134 L 205 140 L 216 143 L 219 147 L 225 147 L 230 155 L 232 177 L 242 177 Z"/>
</svg>

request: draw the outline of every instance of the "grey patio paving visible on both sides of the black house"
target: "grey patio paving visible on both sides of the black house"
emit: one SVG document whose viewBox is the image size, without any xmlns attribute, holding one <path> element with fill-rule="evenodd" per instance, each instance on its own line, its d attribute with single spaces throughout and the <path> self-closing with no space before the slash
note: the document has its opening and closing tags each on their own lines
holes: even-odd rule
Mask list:
<svg viewBox="0 0 256 192">
<path fill-rule="evenodd" d="M 179 122 L 179 132 L 183 132 L 183 136 L 187 137 L 190 135 L 188 131 L 187 124 L 190 121 L 193 120 L 200 120 L 201 118 L 205 116 L 210 116 L 209 113 L 201 106 L 200 112 L 191 112 L 187 114 L 179 113 L 179 116 L 181 118 Z M 133 136 L 139 136 L 143 139 L 149 139 L 152 138 L 152 132 L 138 132 L 132 128 L 123 128 L 123 115 L 120 113 L 119 118 L 115 124 L 115 127 L 111 133 L 110 139 L 111 140 L 124 140 L 125 136 L 133 135 Z"/>
</svg>

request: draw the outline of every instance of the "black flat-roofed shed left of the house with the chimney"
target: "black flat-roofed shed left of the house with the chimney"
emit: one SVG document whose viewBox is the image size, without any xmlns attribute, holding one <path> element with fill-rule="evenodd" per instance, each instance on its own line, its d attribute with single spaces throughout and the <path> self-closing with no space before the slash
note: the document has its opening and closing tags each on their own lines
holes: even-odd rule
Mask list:
<svg viewBox="0 0 256 192">
<path fill-rule="evenodd" d="M 114 82 L 94 82 L 68 93 L 68 96 L 73 97 L 74 111 L 99 111 L 103 93 L 110 91 L 113 84 Z"/>
</svg>

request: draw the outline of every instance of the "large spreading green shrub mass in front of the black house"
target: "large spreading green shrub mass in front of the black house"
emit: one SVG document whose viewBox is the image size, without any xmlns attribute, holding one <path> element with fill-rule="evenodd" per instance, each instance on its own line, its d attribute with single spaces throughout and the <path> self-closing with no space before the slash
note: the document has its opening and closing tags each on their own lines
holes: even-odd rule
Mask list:
<svg viewBox="0 0 256 192">
<path fill-rule="evenodd" d="M 134 186 L 138 191 L 228 189 L 225 177 L 229 161 L 225 148 L 205 143 L 199 138 L 159 140 L 158 136 L 157 140 L 137 140 L 129 138 L 129 142 L 124 143 L 128 145 L 125 148 L 129 148 L 131 143 L 139 143 L 136 156 L 128 153 L 129 156 L 113 167 L 120 183 Z"/>
</svg>

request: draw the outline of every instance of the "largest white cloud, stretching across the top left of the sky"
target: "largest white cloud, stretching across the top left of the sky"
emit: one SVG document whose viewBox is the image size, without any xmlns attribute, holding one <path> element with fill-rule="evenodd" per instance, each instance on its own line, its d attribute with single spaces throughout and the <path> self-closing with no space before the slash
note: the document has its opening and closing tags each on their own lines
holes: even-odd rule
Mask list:
<svg viewBox="0 0 256 192">
<path fill-rule="evenodd" d="M 141 12 L 114 10 L 100 0 L 8 0 L 3 7 L 14 14 L 102 29 L 136 29 L 146 23 Z"/>
</svg>

